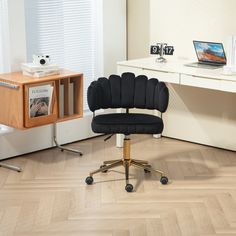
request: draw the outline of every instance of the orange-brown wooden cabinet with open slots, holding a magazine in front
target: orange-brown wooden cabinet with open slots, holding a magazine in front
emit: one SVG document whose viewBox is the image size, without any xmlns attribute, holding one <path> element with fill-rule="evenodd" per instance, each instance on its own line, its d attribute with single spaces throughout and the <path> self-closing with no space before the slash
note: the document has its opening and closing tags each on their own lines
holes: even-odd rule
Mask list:
<svg viewBox="0 0 236 236">
<path fill-rule="evenodd" d="M 52 88 L 46 115 L 30 115 L 30 89 Z M 63 87 L 63 90 L 61 89 Z M 0 75 L 0 123 L 18 129 L 32 128 L 83 116 L 83 75 L 63 70 L 59 75 L 32 78 L 14 72 Z"/>
</svg>

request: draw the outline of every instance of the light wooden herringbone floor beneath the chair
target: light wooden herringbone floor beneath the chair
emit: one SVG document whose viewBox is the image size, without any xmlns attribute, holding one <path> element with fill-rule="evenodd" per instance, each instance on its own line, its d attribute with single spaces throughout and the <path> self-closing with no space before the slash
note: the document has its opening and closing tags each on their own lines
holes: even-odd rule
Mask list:
<svg viewBox="0 0 236 236">
<path fill-rule="evenodd" d="M 212 236 L 236 235 L 236 153 L 176 141 L 132 136 L 132 156 L 163 169 L 171 183 L 132 169 L 135 192 L 124 190 L 123 169 L 94 176 L 102 160 L 118 159 L 115 139 L 69 145 L 8 162 L 22 173 L 0 169 L 1 236 Z"/>
</svg>

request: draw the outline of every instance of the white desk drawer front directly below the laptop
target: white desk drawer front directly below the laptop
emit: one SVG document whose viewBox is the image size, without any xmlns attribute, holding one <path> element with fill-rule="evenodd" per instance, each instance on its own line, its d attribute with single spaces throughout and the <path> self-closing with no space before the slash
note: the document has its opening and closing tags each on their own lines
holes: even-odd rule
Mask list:
<svg viewBox="0 0 236 236">
<path fill-rule="evenodd" d="M 220 90 L 220 80 L 181 74 L 181 85 Z"/>
</svg>

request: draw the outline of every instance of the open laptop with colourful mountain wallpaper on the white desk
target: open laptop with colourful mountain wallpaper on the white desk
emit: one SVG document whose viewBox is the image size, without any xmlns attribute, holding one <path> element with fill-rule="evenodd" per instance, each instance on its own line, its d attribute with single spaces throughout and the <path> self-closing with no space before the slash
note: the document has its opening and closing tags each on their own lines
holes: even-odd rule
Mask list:
<svg viewBox="0 0 236 236">
<path fill-rule="evenodd" d="M 217 69 L 226 64 L 226 56 L 222 43 L 193 41 L 198 62 L 186 64 L 190 67 Z"/>
</svg>

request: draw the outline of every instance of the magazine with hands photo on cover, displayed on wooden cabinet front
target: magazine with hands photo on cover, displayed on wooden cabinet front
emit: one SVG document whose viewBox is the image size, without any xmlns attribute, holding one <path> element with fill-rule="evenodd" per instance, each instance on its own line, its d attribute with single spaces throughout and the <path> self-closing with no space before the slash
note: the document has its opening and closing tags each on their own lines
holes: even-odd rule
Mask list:
<svg viewBox="0 0 236 236">
<path fill-rule="evenodd" d="M 39 85 L 29 88 L 29 117 L 47 116 L 51 114 L 53 86 Z"/>
</svg>

